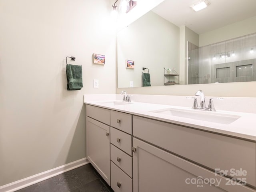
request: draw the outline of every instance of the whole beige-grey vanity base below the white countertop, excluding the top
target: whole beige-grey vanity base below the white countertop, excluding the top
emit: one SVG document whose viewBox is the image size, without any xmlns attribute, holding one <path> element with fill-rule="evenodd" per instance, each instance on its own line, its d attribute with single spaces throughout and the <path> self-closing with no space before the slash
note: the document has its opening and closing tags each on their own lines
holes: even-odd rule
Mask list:
<svg viewBox="0 0 256 192">
<path fill-rule="evenodd" d="M 255 141 L 91 105 L 86 116 L 87 158 L 115 192 L 256 192 Z"/>
</svg>

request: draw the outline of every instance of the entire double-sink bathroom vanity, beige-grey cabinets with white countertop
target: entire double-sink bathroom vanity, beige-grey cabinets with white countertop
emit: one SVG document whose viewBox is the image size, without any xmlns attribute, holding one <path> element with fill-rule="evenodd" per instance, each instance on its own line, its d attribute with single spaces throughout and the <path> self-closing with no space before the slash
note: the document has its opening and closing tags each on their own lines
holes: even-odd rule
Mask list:
<svg viewBox="0 0 256 192">
<path fill-rule="evenodd" d="M 256 114 L 84 102 L 87 158 L 115 192 L 256 192 Z"/>
</svg>

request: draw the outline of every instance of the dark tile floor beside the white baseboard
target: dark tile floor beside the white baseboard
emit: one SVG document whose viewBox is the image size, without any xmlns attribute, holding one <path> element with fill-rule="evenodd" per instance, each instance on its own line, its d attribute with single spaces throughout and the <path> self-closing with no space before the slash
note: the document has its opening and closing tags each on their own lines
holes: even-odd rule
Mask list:
<svg viewBox="0 0 256 192">
<path fill-rule="evenodd" d="M 114 192 L 91 164 L 78 167 L 16 192 Z"/>
</svg>

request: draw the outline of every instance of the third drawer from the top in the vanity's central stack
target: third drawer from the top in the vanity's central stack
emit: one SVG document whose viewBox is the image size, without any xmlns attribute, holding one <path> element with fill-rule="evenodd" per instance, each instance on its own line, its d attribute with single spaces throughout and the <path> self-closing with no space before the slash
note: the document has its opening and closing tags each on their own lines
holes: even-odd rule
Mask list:
<svg viewBox="0 0 256 192">
<path fill-rule="evenodd" d="M 110 144 L 110 159 L 132 177 L 132 157 Z"/>
</svg>

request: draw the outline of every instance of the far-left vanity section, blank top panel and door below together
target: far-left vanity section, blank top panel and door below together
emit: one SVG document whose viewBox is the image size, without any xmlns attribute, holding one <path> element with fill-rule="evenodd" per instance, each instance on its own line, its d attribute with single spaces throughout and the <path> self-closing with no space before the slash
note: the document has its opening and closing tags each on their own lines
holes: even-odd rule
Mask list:
<svg viewBox="0 0 256 192">
<path fill-rule="evenodd" d="M 110 110 L 86 106 L 86 157 L 110 185 L 109 123 Z"/>
</svg>

